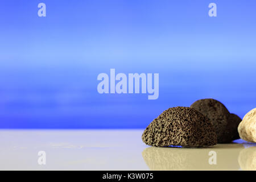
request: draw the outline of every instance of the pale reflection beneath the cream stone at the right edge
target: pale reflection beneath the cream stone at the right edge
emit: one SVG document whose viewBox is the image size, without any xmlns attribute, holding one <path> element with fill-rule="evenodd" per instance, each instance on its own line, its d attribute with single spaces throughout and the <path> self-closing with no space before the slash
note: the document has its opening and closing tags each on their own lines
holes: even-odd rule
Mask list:
<svg viewBox="0 0 256 182">
<path fill-rule="evenodd" d="M 256 170 L 256 144 L 246 145 L 238 157 L 240 167 L 244 171 Z"/>
</svg>

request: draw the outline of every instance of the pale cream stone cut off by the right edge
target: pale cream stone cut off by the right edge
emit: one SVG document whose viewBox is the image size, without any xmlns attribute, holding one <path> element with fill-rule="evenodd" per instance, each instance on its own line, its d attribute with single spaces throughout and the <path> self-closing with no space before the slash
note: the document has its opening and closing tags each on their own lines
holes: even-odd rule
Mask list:
<svg viewBox="0 0 256 182">
<path fill-rule="evenodd" d="M 241 139 L 247 142 L 256 142 L 256 108 L 249 111 L 243 117 L 242 122 L 238 126 L 238 132 Z"/>
</svg>

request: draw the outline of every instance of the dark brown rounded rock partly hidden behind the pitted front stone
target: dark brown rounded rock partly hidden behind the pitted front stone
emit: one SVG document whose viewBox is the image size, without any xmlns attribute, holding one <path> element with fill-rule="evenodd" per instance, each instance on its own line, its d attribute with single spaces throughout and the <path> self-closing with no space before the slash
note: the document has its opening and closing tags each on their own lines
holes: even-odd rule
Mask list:
<svg viewBox="0 0 256 182">
<path fill-rule="evenodd" d="M 242 119 L 236 114 L 230 114 L 221 102 L 207 98 L 194 102 L 191 108 L 209 118 L 216 131 L 218 143 L 230 143 L 239 138 L 237 127 Z"/>
</svg>

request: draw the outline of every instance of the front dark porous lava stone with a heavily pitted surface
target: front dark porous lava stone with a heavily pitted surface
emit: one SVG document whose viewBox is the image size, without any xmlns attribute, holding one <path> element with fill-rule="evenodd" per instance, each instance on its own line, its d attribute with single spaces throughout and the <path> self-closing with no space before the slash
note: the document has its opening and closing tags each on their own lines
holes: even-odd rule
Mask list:
<svg viewBox="0 0 256 182">
<path fill-rule="evenodd" d="M 147 126 L 142 140 L 149 146 L 213 146 L 217 135 L 209 119 L 190 107 L 171 107 Z"/>
</svg>

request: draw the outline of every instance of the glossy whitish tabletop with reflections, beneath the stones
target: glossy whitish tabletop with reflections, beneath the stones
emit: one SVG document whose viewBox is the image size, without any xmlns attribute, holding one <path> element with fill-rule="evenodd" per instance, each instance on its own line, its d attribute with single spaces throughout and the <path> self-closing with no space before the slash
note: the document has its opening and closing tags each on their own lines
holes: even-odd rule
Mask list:
<svg viewBox="0 0 256 182">
<path fill-rule="evenodd" d="M 1 170 L 256 170 L 256 144 L 150 147 L 143 130 L 0 130 Z M 46 152 L 46 165 L 38 152 Z M 209 164 L 210 151 L 216 164 Z"/>
</svg>

